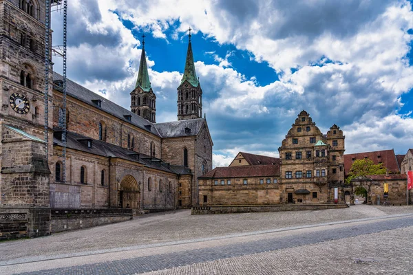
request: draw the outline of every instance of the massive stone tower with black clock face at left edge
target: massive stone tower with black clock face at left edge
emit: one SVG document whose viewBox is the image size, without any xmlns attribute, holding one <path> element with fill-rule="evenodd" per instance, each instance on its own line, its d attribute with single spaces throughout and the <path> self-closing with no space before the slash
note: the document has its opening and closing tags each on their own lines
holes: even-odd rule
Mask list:
<svg viewBox="0 0 413 275">
<path fill-rule="evenodd" d="M 44 141 L 45 8 L 45 1 L 0 0 L 0 207 L 49 206 L 50 170 Z M 52 74 L 50 110 L 51 83 Z M 52 111 L 48 116 L 46 129 L 52 140 Z M 52 154 L 52 146 L 48 152 Z"/>
</svg>

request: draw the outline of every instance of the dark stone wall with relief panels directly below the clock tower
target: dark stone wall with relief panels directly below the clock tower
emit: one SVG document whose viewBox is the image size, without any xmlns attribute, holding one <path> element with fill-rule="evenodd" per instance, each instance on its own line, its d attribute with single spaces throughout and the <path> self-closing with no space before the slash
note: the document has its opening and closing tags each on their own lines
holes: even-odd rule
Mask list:
<svg viewBox="0 0 413 275">
<path fill-rule="evenodd" d="M 0 240 L 50 234 L 50 208 L 0 208 Z"/>
</svg>

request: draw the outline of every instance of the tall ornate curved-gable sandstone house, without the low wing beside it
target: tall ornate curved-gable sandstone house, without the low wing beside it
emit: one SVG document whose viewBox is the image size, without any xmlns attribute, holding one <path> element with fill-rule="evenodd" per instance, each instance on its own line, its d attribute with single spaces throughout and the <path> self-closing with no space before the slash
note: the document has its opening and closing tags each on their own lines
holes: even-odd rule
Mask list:
<svg viewBox="0 0 413 275">
<path fill-rule="evenodd" d="M 301 111 L 278 148 L 284 203 L 327 203 L 334 199 L 329 186 L 343 184 L 345 136 L 334 124 L 321 133 L 306 111 Z"/>
</svg>

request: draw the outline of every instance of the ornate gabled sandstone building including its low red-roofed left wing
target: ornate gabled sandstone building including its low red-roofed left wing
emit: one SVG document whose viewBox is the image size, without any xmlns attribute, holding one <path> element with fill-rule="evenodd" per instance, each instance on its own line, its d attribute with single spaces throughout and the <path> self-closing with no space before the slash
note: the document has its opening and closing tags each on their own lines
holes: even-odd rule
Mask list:
<svg viewBox="0 0 413 275">
<path fill-rule="evenodd" d="M 337 186 L 344 202 L 344 140 L 339 126 L 324 135 L 301 111 L 279 158 L 240 152 L 229 167 L 199 177 L 200 204 L 331 203 Z"/>
</svg>

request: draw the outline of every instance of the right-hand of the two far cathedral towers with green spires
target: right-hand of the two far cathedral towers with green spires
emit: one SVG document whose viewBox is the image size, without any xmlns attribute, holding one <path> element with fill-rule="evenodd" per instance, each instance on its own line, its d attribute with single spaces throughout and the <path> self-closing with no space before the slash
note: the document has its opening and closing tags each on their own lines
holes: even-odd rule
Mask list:
<svg viewBox="0 0 413 275">
<path fill-rule="evenodd" d="M 178 120 L 191 120 L 194 118 L 202 118 L 202 89 L 193 63 L 191 29 L 189 29 L 184 76 L 182 76 L 178 87 Z"/>
</svg>

